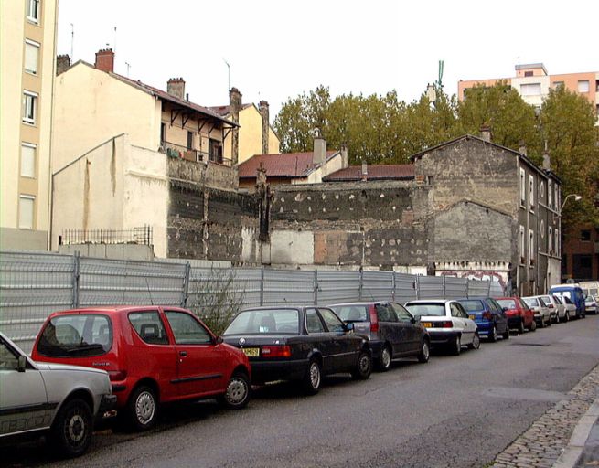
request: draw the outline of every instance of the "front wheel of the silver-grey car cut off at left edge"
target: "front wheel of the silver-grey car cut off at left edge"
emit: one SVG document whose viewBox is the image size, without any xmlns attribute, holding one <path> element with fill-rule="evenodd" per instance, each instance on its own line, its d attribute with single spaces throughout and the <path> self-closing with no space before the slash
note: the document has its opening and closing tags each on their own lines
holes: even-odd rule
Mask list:
<svg viewBox="0 0 599 468">
<path fill-rule="evenodd" d="M 82 399 L 62 405 L 49 432 L 52 449 L 59 455 L 77 457 L 90 445 L 93 422 L 91 409 Z"/>
</svg>

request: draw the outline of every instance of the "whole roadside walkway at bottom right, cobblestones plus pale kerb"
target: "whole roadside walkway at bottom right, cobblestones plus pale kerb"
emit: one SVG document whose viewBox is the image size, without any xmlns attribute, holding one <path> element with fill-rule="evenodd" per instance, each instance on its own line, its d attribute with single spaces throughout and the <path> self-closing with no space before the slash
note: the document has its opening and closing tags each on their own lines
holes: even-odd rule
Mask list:
<svg viewBox="0 0 599 468">
<path fill-rule="evenodd" d="M 599 366 L 499 453 L 495 468 L 599 466 Z"/>
</svg>

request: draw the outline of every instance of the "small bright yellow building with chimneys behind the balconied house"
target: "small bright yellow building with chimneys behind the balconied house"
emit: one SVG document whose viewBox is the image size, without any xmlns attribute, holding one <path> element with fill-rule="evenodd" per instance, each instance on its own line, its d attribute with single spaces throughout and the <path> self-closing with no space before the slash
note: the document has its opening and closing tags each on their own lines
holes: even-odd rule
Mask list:
<svg viewBox="0 0 599 468">
<path fill-rule="evenodd" d="M 237 88 L 230 89 L 229 101 L 228 106 L 209 108 L 240 124 L 239 130 L 233 130 L 225 138 L 225 157 L 230 158 L 235 165 L 247 161 L 254 154 L 279 153 L 279 137 L 269 120 L 268 102 L 260 101 L 258 107 L 253 103 L 243 104 L 241 92 Z"/>
</svg>

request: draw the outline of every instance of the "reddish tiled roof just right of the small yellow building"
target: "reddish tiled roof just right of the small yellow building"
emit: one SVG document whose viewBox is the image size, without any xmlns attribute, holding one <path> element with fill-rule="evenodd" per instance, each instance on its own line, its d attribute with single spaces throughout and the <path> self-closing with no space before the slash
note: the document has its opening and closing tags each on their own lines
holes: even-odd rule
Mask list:
<svg viewBox="0 0 599 468">
<path fill-rule="evenodd" d="M 326 159 L 337 151 L 327 151 Z M 316 165 L 312 163 L 313 152 L 288 154 L 256 154 L 239 165 L 240 178 L 255 178 L 256 171 L 262 165 L 267 177 L 304 177 Z"/>
</svg>

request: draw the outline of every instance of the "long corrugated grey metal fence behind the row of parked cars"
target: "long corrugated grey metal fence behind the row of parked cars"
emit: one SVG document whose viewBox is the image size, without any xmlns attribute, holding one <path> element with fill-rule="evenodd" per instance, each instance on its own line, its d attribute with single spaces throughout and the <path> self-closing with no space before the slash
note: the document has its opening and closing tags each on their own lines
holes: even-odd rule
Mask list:
<svg viewBox="0 0 599 468">
<path fill-rule="evenodd" d="M 498 282 L 393 271 L 209 268 L 189 262 L 0 252 L 0 330 L 27 351 L 48 314 L 92 305 L 160 304 L 201 309 L 222 302 L 238 308 L 380 300 L 403 303 L 487 295 L 503 295 Z"/>
</svg>

